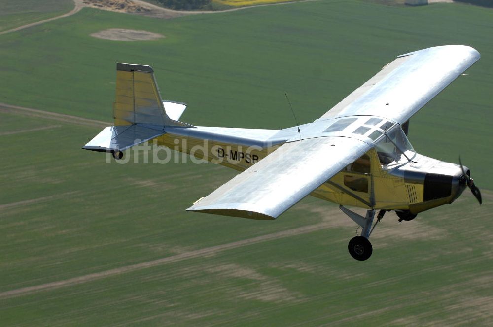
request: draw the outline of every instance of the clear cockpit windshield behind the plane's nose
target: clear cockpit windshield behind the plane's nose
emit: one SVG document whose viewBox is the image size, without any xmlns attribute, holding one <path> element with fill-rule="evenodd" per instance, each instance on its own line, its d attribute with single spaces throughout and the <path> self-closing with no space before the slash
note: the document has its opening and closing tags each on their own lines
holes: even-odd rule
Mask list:
<svg viewBox="0 0 493 327">
<path fill-rule="evenodd" d="M 383 165 L 390 163 L 407 163 L 416 155 L 406 134 L 399 125 L 386 131 L 375 144 L 378 158 Z M 406 158 L 407 156 L 407 158 Z"/>
</svg>

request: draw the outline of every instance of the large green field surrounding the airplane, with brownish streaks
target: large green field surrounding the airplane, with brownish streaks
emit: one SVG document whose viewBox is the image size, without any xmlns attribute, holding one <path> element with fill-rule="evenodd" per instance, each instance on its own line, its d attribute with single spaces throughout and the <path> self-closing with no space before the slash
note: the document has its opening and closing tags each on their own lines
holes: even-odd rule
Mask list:
<svg viewBox="0 0 493 327">
<path fill-rule="evenodd" d="M 322 115 L 396 55 L 467 44 L 482 59 L 410 125 L 461 154 L 483 192 L 398 223 L 356 262 L 356 225 L 306 198 L 276 221 L 185 212 L 235 175 L 212 164 L 106 164 L 99 123 L 0 105 L 0 325 L 483 325 L 492 317 L 493 11 L 319 1 L 159 20 L 83 9 L 0 36 L 0 102 L 111 121 L 115 62 L 151 65 L 195 125 L 284 128 Z M 106 28 L 161 33 L 96 39 Z M 41 116 L 41 117 L 39 117 Z M 58 117 L 58 118 L 57 118 Z"/>
</svg>

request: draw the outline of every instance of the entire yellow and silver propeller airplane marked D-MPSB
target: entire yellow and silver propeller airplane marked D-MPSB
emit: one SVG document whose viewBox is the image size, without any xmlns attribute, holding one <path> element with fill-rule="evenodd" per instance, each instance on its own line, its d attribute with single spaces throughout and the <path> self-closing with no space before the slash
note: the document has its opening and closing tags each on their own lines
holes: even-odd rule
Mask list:
<svg viewBox="0 0 493 327">
<path fill-rule="evenodd" d="M 420 155 L 407 138 L 409 119 L 479 58 L 462 45 L 398 56 L 313 123 L 284 130 L 181 122 L 186 104 L 163 101 L 150 66 L 118 63 L 114 126 L 83 148 L 118 160 L 152 140 L 241 171 L 189 211 L 276 219 L 308 195 L 337 203 L 362 227 L 349 242 L 350 254 L 366 260 L 370 234 L 386 211 L 412 220 L 452 203 L 466 186 L 481 203 L 467 167 Z M 366 215 L 346 206 L 365 208 Z"/>
</svg>

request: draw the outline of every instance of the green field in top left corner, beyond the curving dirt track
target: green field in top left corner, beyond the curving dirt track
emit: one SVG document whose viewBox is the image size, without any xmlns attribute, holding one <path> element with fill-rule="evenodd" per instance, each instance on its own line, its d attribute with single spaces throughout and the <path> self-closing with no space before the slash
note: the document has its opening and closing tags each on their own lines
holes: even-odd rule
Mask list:
<svg viewBox="0 0 493 327">
<path fill-rule="evenodd" d="M 59 16 L 70 9 L 72 0 L 0 0 L 0 32 Z"/>
</svg>

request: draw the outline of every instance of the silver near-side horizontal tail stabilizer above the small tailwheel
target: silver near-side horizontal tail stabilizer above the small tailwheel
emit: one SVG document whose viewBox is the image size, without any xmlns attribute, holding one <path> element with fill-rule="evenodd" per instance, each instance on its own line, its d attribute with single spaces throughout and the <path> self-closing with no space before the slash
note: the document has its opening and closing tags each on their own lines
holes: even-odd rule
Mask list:
<svg viewBox="0 0 493 327">
<path fill-rule="evenodd" d="M 124 151 L 162 134 L 164 131 L 139 125 L 108 126 L 89 141 L 83 149 L 103 152 Z"/>
</svg>

